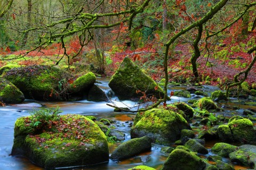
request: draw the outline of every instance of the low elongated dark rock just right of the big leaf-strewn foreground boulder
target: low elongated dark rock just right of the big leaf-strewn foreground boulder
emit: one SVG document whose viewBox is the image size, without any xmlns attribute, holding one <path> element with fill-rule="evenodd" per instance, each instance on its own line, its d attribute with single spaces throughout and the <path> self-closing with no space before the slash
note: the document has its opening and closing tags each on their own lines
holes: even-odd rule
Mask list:
<svg viewBox="0 0 256 170">
<path fill-rule="evenodd" d="M 114 160 L 123 160 L 149 150 L 151 150 L 150 137 L 134 138 L 121 143 L 121 145 L 112 152 L 110 158 Z"/>
</svg>

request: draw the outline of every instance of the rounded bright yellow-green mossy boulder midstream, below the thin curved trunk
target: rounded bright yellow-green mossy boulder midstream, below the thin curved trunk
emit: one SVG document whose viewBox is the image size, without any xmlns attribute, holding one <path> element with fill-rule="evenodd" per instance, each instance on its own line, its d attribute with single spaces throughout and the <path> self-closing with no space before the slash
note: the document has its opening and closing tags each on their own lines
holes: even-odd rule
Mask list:
<svg viewBox="0 0 256 170">
<path fill-rule="evenodd" d="M 131 137 L 148 135 L 155 143 L 172 143 L 180 139 L 182 129 L 191 129 L 180 114 L 165 109 L 151 109 L 137 113 Z"/>
</svg>

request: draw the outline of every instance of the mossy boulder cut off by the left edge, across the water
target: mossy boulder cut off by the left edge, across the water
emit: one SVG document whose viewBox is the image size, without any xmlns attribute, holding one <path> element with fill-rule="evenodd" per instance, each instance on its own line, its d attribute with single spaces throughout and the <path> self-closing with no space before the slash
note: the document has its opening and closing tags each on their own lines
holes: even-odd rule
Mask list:
<svg viewBox="0 0 256 170">
<path fill-rule="evenodd" d="M 25 100 L 23 93 L 10 81 L 0 79 L 0 101 L 18 104 Z"/>
</svg>

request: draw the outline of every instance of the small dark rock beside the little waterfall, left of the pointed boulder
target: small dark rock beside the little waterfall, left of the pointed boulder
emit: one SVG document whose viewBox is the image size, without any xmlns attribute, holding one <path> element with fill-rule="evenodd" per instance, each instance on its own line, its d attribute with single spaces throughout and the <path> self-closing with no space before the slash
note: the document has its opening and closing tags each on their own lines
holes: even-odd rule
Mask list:
<svg viewBox="0 0 256 170">
<path fill-rule="evenodd" d="M 89 90 L 88 101 L 108 101 L 108 97 L 105 92 L 102 91 L 97 85 L 93 86 Z"/>
</svg>

